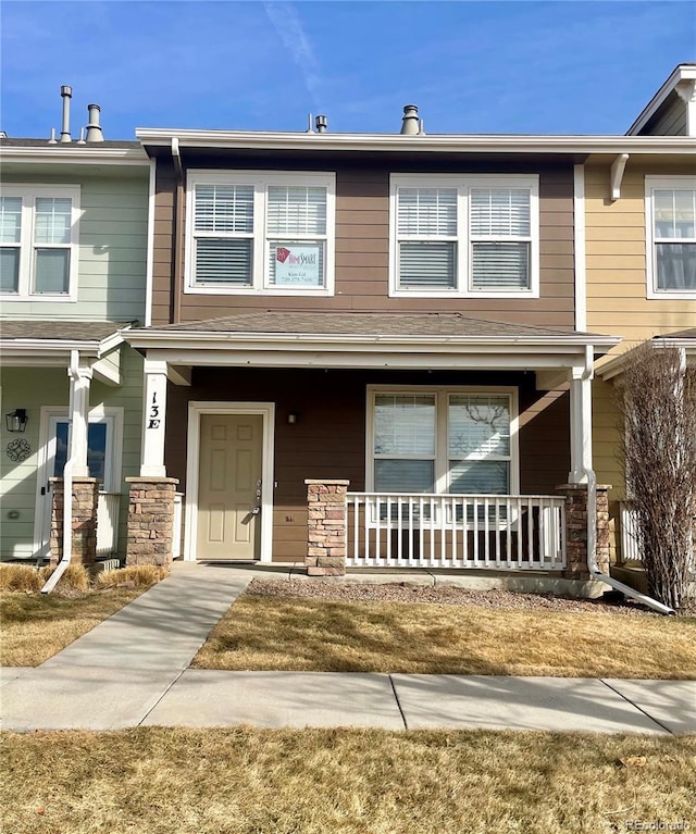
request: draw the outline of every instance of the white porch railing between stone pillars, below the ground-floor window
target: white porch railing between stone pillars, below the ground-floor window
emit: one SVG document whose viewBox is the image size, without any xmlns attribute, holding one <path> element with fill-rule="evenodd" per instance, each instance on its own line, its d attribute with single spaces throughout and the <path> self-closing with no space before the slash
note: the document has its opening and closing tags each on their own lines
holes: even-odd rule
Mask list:
<svg viewBox="0 0 696 834">
<path fill-rule="evenodd" d="M 348 567 L 561 570 L 563 498 L 348 493 Z"/>
</svg>

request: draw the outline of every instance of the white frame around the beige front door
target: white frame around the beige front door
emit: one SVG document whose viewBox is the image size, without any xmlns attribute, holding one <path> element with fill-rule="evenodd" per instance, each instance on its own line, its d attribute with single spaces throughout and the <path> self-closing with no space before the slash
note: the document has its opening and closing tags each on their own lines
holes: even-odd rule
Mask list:
<svg viewBox="0 0 696 834">
<path fill-rule="evenodd" d="M 191 400 L 188 403 L 186 455 L 186 533 L 184 561 L 196 561 L 198 533 L 198 464 L 200 459 L 200 418 L 202 414 L 261 414 L 263 418 L 263 470 L 261 484 L 261 562 L 273 555 L 273 466 L 275 438 L 274 402 L 225 402 Z"/>
</svg>

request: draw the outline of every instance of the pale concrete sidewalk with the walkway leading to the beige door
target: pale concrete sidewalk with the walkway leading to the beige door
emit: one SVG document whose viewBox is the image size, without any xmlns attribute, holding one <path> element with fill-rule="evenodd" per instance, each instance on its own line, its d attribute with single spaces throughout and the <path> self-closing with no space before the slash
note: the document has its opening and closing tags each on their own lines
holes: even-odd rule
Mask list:
<svg viewBox="0 0 696 834">
<path fill-rule="evenodd" d="M 696 732 L 696 682 L 319 672 L 189 664 L 258 573 L 177 570 L 36 669 L 2 669 L 5 730 L 360 726 Z"/>
</svg>

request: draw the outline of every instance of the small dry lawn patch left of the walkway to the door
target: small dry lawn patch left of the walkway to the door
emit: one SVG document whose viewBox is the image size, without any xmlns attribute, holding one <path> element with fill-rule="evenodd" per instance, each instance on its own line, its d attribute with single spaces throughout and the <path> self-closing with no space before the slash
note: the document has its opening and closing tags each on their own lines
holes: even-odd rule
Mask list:
<svg viewBox="0 0 696 834">
<path fill-rule="evenodd" d="M 42 663 L 145 589 L 113 588 L 70 597 L 0 592 L 0 665 Z"/>
</svg>

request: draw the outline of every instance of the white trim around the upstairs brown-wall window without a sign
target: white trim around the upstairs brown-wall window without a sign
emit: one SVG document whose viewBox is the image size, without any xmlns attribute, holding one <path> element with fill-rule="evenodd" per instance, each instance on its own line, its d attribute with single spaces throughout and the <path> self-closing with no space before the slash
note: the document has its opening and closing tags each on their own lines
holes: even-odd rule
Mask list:
<svg viewBox="0 0 696 834">
<path fill-rule="evenodd" d="M 529 188 L 530 287 L 527 289 L 472 289 L 469 192 L 472 188 Z M 457 278 L 459 286 L 443 289 L 399 287 L 397 246 L 397 191 L 399 188 L 457 188 Z M 539 297 L 539 178 L 522 174 L 391 174 L 389 177 L 389 297 L 390 298 L 538 298 Z"/>
</svg>

